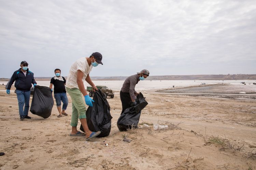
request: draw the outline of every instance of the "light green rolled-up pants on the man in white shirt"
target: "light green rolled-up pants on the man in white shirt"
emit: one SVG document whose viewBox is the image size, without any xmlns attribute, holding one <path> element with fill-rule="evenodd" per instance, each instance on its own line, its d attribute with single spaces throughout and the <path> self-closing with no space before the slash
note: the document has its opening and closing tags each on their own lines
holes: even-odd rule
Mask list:
<svg viewBox="0 0 256 170">
<path fill-rule="evenodd" d="M 86 118 L 86 107 L 82 93 L 78 88 L 68 88 L 66 90 L 72 100 L 72 116 L 71 116 L 71 126 L 77 126 L 78 119 Z"/>
</svg>

